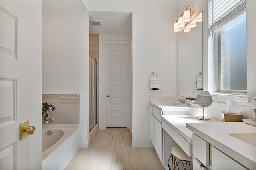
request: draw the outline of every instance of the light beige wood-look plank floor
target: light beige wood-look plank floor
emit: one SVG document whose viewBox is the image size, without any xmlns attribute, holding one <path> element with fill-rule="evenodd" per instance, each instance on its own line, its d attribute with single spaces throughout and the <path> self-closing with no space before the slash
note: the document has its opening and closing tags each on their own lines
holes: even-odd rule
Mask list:
<svg viewBox="0 0 256 170">
<path fill-rule="evenodd" d="M 132 148 L 127 128 L 98 130 L 65 170 L 165 170 L 153 147 Z"/>
</svg>

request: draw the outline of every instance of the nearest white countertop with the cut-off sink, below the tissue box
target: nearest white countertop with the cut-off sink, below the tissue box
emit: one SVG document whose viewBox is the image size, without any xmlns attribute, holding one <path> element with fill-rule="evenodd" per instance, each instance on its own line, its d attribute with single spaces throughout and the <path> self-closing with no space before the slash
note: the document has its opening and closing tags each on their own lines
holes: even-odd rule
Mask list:
<svg viewBox="0 0 256 170">
<path fill-rule="evenodd" d="M 256 169 L 256 147 L 229 135 L 256 133 L 255 126 L 243 122 L 219 122 L 187 123 L 186 127 L 247 168 Z"/>
</svg>

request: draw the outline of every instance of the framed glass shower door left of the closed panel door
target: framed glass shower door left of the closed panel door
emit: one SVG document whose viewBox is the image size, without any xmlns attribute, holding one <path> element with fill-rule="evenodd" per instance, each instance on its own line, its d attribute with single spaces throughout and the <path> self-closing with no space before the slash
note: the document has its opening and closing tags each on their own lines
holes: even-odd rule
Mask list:
<svg viewBox="0 0 256 170">
<path fill-rule="evenodd" d="M 89 53 L 89 88 L 90 88 L 90 115 L 89 115 L 89 127 L 90 130 L 98 123 L 98 62 Z"/>
</svg>

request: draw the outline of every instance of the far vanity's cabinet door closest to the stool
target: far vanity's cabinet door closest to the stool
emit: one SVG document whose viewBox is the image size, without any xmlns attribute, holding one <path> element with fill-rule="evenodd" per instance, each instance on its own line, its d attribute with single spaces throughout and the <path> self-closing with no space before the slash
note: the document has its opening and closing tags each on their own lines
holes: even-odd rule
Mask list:
<svg viewBox="0 0 256 170">
<path fill-rule="evenodd" d="M 162 123 L 155 119 L 155 149 L 162 162 Z"/>
</svg>

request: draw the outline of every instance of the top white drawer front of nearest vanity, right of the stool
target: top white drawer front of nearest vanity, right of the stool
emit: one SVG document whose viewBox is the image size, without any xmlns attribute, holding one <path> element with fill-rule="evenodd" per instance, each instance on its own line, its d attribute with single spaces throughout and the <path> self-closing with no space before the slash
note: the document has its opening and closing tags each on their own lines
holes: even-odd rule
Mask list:
<svg viewBox="0 0 256 170">
<path fill-rule="evenodd" d="M 193 135 L 193 155 L 204 164 L 204 166 L 209 166 L 210 154 L 209 154 L 209 146 L 210 144 L 206 142 L 204 139 L 200 138 L 196 134 Z"/>
</svg>

